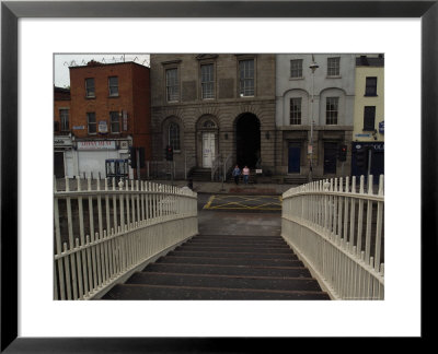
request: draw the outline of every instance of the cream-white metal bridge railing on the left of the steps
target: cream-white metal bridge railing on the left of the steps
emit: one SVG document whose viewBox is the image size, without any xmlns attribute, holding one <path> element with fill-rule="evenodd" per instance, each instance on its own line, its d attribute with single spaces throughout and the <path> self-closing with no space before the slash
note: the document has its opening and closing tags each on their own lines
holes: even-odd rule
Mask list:
<svg viewBox="0 0 438 354">
<path fill-rule="evenodd" d="M 197 194 L 188 188 L 115 179 L 57 185 L 55 299 L 96 297 L 198 233 Z"/>
</svg>

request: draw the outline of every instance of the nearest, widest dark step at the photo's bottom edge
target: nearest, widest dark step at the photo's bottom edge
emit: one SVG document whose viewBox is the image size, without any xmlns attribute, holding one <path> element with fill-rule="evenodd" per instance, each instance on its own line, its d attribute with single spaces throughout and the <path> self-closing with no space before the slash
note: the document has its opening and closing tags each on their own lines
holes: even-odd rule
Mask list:
<svg viewBox="0 0 438 354">
<path fill-rule="evenodd" d="M 191 287 L 191 286 L 164 286 L 164 285 L 139 285 L 122 284 L 116 285 L 102 299 L 303 299 L 321 300 L 330 299 L 323 292 L 303 291 L 265 291 L 265 290 L 235 290 L 220 287 Z"/>
</svg>

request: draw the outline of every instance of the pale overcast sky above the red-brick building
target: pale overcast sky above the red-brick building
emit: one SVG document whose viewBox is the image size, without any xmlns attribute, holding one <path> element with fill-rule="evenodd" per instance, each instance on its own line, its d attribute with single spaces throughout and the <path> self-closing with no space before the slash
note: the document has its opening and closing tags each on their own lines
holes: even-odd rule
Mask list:
<svg viewBox="0 0 438 354">
<path fill-rule="evenodd" d="M 90 60 L 112 63 L 135 61 L 149 67 L 148 54 L 55 54 L 54 55 L 54 81 L 58 87 L 70 86 L 69 67 L 87 66 Z"/>
</svg>

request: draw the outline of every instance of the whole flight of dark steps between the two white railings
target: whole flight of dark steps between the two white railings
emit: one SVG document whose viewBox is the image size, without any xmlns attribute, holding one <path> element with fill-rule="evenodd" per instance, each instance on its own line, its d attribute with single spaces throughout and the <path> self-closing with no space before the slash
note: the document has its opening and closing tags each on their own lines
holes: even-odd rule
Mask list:
<svg viewBox="0 0 438 354">
<path fill-rule="evenodd" d="M 197 235 L 102 299 L 330 299 L 280 236 Z"/>
</svg>

